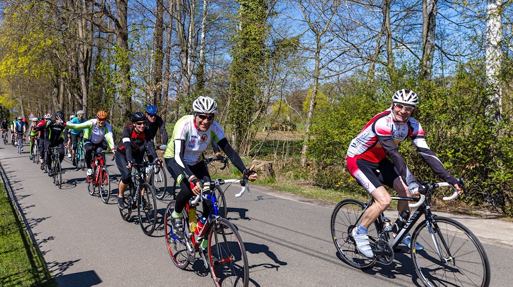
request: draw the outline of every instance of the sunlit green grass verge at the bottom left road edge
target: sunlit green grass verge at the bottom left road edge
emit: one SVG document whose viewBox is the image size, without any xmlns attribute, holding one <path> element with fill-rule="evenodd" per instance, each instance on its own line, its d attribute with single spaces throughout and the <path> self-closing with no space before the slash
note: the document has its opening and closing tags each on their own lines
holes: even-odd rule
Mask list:
<svg viewBox="0 0 513 287">
<path fill-rule="evenodd" d="M 56 287 L 0 184 L 0 286 Z"/>
</svg>

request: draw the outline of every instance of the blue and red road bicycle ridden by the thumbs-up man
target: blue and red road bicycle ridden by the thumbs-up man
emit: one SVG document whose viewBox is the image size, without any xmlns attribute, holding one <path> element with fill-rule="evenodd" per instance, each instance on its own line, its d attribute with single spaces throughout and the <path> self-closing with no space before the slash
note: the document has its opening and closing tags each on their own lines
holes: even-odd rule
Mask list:
<svg viewBox="0 0 513 287">
<path fill-rule="evenodd" d="M 210 191 L 217 189 L 225 183 L 239 182 L 242 185 L 241 192 L 236 196 L 241 196 L 249 187 L 248 177 L 243 179 L 215 179 L 210 182 L 203 182 L 204 187 L 210 187 Z M 210 274 L 216 286 L 244 286 L 249 283 L 249 265 L 244 247 L 244 242 L 238 229 L 228 219 L 222 217 L 219 213 L 219 202 L 215 192 L 204 194 L 202 188 L 201 194 L 194 200 L 186 204 L 182 211 L 184 217 L 184 239 L 179 239 L 172 233 L 172 216 L 176 200 L 171 200 L 166 207 L 164 216 L 164 230 L 166 234 L 166 245 L 174 265 L 180 269 L 186 269 L 199 253 L 205 268 L 210 270 Z M 189 209 L 198 206 L 202 200 L 209 200 L 212 204 L 210 214 L 207 217 L 203 236 L 198 237 L 195 232 L 190 230 Z M 199 217 L 198 217 L 199 218 Z M 208 224 L 208 225 L 207 225 Z M 203 239 L 208 241 L 208 247 L 202 250 L 200 245 Z"/>
</svg>

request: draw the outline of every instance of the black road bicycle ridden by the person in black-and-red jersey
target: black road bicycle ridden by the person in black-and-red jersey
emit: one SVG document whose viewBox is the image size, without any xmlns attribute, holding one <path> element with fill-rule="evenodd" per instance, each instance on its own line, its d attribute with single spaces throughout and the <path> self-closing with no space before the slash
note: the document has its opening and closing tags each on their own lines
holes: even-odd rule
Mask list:
<svg viewBox="0 0 513 287">
<path fill-rule="evenodd" d="M 137 209 L 139 225 L 144 234 L 151 235 L 155 230 L 157 221 L 155 191 L 146 182 L 146 167 L 157 165 L 157 163 L 133 163 L 130 169 L 130 183 L 123 195 L 124 209 L 120 209 L 123 220 L 128 221 L 132 210 Z"/>
</svg>

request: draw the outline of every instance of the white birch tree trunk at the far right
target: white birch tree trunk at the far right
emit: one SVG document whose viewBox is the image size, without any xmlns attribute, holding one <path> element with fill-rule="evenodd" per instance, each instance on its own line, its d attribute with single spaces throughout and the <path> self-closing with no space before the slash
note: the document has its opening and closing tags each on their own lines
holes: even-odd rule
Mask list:
<svg viewBox="0 0 513 287">
<path fill-rule="evenodd" d="M 502 120 L 502 87 L 498 79 L 501 69 L 502 51 L 502 17 L 501 0 L 488 0 L 486 6 L 486 77 L 492 88 L 490 105 L 486 108 L 486 114 L 491 121 L 499 124 Z"/>
</svg>

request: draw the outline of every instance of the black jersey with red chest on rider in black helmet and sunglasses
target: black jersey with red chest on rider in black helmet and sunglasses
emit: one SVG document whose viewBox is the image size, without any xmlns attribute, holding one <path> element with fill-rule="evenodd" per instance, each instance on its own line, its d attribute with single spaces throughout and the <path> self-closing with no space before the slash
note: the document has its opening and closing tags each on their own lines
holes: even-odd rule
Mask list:
<svg viewBox="0 0 513 287">
<path fill-rule="evenodd" d="M 148 130 L 144 130 L 141 133 L 137 133 L 134 126 L 130 125 L 123 129 L 121 141 L 117 144 L 117 152 L 126 155 L 127 160 L 132 160 L 132 156 L 138 155 L 142 157 L 148 147 L 148 151 L 157 158 L 155 148 L 153 147 L 153 140 L 150 138 Z M 117 153 L 116 152 L 116 153 Z"/>
</svg>

